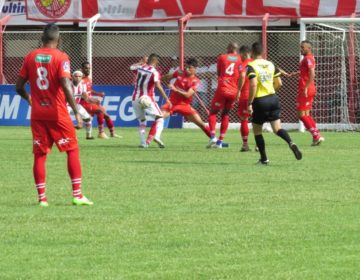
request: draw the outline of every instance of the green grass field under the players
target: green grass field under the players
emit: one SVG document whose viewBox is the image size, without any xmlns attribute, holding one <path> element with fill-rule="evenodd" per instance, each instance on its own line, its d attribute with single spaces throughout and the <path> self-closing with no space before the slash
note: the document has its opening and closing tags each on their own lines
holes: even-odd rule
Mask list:
<svg viewBox="0 0 360 280">
<path fill-rule="evenodd" d="M 207 150 L 199 130 L 165 130 L 166 149 L 85 141 L 83 190 L 71 205 L 65 155 L 48 157 L 41 209 L 28 128 L 0 127 L 0 279 L 360 279 L 360 134 L 273 134 L 255 152 Z M 254 146 L 253 135 L 250 144 Z"/>
</svg>

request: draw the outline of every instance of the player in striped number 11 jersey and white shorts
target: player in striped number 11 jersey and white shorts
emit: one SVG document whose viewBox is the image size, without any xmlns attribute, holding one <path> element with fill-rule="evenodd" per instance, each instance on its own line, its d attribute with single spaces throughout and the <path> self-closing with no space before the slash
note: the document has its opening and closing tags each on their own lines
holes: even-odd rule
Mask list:
<svg viewBox="0 0 360 280">
<path fill-rule="evenodd" d="M 147 64 L 132 65 L 130 69 L 136 69 L 135 89 L 132 95 L 132 105 L 136 118 L 139 121 L 139 137 L 141 148 L 147 148 L 154 140 L 160 148 L 165 148 L 160 139 L 161 132 L 164 128 L 164 119 L 159 106 L 154 100 L 154 88 L 156 87 L 166 103 L 171 107 L 169 98 L 166 96 L 161 86 L 160 74 L 156 70 L 159 65 L 160 57 L 157 54 L 151 54 Z M 150 129 L 149 136 L 145 139 L 146 133 L 146 115 L 152 117 L 155 121 Z"/>
</svg>

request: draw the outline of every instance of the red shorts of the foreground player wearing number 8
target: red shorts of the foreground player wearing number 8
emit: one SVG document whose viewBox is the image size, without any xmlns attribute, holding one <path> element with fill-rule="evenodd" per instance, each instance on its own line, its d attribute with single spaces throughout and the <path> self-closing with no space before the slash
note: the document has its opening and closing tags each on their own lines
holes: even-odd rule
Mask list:
<svg viewBox="0 0 360 280">
<path fill-rule="evenodd" d="M 31 120 L 33 153 L 46 154 L 55 142 L 60 152 L 78 148 L 76 131 L 71 119 L 58 121 Z"/>
</svg>

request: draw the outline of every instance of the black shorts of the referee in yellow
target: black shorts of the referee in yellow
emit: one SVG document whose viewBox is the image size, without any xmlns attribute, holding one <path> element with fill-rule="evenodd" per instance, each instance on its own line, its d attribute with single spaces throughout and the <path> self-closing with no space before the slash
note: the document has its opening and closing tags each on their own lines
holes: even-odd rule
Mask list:
<svg viewBox="0 0 360 280">
<path fill-rule="evenodd" d="M 263 124 L 280 119 L 280 102 L 276 94 L 255 98 L 252 107 L 252 122 L 255 124 Z"/>
</svg>

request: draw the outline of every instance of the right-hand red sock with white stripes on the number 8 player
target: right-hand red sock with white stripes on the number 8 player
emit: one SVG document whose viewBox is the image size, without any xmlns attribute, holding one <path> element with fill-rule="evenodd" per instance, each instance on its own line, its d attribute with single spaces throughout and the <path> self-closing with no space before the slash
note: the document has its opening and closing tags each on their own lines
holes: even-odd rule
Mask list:
<svg viewBox="0 0 360 280">
<path fill-rule="evenodd" d="M 81 193 L 81 165 L 79 149 L 67 151 L 68 172 L 71 178 L 73 197 L 82 198 Z"/>
</svg>

